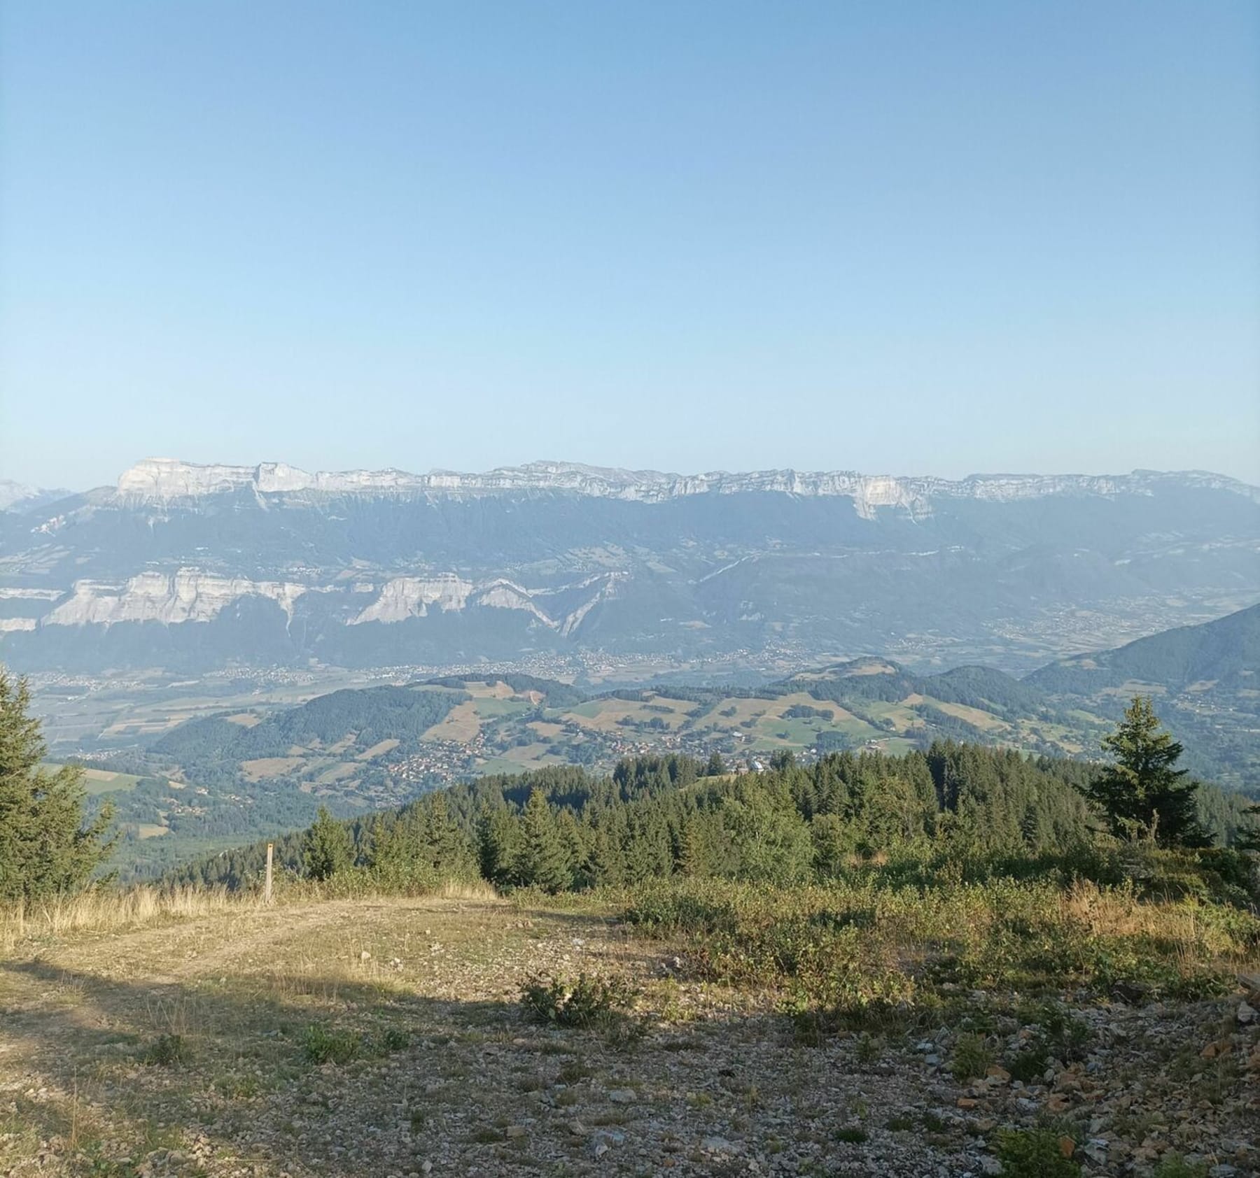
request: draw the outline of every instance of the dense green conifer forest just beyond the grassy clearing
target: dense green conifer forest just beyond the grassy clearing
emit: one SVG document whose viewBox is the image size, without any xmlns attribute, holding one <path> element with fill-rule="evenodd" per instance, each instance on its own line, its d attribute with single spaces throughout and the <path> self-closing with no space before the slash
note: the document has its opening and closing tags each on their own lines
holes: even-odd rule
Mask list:
<svg viewBox="0 0 1260 1178">
<path fill-rule="evenodd" d="M 563 891 L 672 875 L 801 882 L 890 856 L 1036 871 L 1041 857 L 1084 853 L 1096 828 L 1081 797 L 1091 766 L 1008 749 L 940 741 L 902 756 L 839 753 L 800 765 L 784 754 L 764 773 L 712 769 L 645 756 L 609 777 L 575 766 L 486 777 L 321 837 L 344 839 L 341 866 L 396 882 L 480 873 L 500 886 Z M 1247 822 L 1246 803 L 1201 794 L 1206 823 L 1231 841 Z M 310 842 L 306 832 L 280 839 L 281 868 L 307 873 Z M 239 887 L 263 861 L 260 843 L 173 878 Z"/>
</svg>

